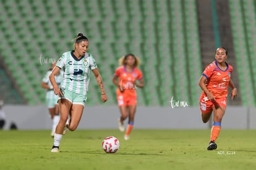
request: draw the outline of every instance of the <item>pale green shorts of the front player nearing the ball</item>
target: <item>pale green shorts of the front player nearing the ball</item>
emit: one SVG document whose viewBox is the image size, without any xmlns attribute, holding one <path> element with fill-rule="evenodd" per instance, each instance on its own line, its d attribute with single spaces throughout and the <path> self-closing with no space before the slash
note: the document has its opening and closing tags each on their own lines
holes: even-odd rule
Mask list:
<svg viewBox="0 0 256 170">
<path fill-rule="evenodd" d="M 71 102 L 72 104 L 85 106 L 87 95 L 77 94 L 75 92 L 63 88 L 61 88 L 61 92 L 63 95 L 59 97 L 59 99 L 66 99 L 69 100 L 69 102 Z"/>
</svg>

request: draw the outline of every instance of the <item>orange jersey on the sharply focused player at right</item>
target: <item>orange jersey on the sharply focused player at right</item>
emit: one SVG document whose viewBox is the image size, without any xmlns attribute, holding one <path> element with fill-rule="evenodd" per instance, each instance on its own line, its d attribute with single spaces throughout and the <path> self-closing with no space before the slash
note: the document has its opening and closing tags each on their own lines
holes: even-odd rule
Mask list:
<svg viewBox="0 0 256 170">
<path fill-rule="evenodd" d="M 221 70 L 217 62 L 214 61 L 208 65 L 203 71 L 203 76 L 207 78 L 207 89 L 216 99 L 228 96 L 228 84 L 231 79 L 233 67 L 226 63 L 226 70 Z M 202 92 L 203 94 L 204 92 Z M 206 95 L 206 94 L 205 94 Z"/>
</svg>

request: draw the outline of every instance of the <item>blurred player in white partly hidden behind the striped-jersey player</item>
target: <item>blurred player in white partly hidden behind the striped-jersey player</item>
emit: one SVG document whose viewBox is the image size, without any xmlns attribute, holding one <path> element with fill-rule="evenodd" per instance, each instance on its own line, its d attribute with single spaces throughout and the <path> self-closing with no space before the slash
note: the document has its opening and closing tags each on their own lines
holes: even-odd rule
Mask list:
<svg viewBox="0 0 256 170">
<path fill-rule="evenodd" d="M 59 123 L 59 106 L 58 106 L 58 95 L 54 94 L 53 91 L 53 85 L 51 85 L 51 82 L 49 81 L 49 75 L 51 74 L 51 71 L 55 67 L 56 62 L 54 62 L 51 65 L 51 68 L 46 72 L 42 82 L 41 82 L 41 87 L 46 89 L 46 105 L 49 108 L 49 113 L 51 115 L 51 119 L 53 119 L 53 126 L 51 129 L 51 137 L 54 137 L 54 132 L 56 129 L 57 124 Z M 58 86 L 61 85 L 62 81 L 62 76 L 63 74 L 61 73 L 62 71 L 59 71 L 57 75 L 55 76 L 56 83 Z"/>
</svg>

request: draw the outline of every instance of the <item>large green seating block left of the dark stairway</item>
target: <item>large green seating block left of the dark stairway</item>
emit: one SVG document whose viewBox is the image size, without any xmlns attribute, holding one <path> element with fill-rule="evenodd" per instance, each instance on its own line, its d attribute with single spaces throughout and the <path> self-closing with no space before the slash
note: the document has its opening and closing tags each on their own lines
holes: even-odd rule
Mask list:
<svg viewBox="0 0 256 170">
<path fill-rule="evenodd" d="M 116 105 L 112 78 L 118 59 L 129 52 L 142 61 L 145 88 L 138 89 L 138 105 L 168 106 L 174 95 L 197 105 L 202 69 L 195 0 L 5 0 L 0 13 L 0 55 L 32 105 L 45 102 L 40 84 L 49 60 L 72 50 L 79 31 L 90 41 L 88 52 L 109 95 L 106 105 Z M 87 105 L 100 105 L 98 84 L 90 78 Z"/>
</svg>

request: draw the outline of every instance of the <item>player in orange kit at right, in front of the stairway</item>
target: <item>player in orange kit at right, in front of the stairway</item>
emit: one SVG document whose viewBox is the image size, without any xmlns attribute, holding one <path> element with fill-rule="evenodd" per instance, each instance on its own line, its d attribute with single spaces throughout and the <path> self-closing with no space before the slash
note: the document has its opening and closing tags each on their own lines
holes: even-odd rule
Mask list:
<svg viewBox="0 0 256 170">
<path fill-rule="evenodd" d="M 220 134 L 221 120 L 226 111 L 228 86 L 233 89 L 231 92 L 232 100 L 237 96 L 236 87 L 231 80 L 233 67 L 226 63 L 227 58 L 228 51 L 224 47 L 216 49 L 215 61 L 205 68 L 199 80 L 199 86 L 203 90 L 200 97 L 203 123 L 207 123 L 213 111 L 213 126 L 207 150 L 217 148 L 215 142 Z"/>
</svg>

